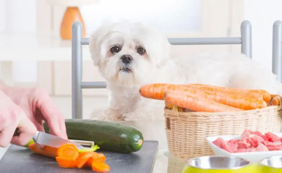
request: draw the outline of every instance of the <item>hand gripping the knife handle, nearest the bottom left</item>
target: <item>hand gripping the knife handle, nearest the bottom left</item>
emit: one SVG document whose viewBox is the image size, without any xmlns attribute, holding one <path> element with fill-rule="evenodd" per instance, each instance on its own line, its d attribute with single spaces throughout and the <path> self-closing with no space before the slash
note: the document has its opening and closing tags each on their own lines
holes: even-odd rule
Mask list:
<svg viewBox="0 0 282 173">
<path fill-rule="evenodd" d="M 13 137 L 17 127 L 21 133 Z M 35 133 L 36 127 L 24 111 L 0 91 L 0 146 L 6 147 L 9 143 L 25 145 Z"/>
</svg>

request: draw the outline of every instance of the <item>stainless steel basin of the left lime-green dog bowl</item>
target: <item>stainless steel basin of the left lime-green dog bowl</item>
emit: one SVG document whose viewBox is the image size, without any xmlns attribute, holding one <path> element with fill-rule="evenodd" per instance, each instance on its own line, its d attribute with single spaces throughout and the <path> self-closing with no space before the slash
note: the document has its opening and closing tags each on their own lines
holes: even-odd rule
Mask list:
<svg viewBox="0 0 282 173">
<path fill-rule="evenodd" d="M 240 157 L 201 156 L 188 160 L 187 165 L 193 168 L 209 170 L 230 170 L 250 166 L 251 162 Z"/>
</svg>

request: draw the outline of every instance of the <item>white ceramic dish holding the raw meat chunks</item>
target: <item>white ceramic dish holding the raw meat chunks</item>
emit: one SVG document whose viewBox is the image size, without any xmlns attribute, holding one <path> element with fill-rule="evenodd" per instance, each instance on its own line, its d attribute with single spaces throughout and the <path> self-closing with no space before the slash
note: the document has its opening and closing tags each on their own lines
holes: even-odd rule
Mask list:
<svg viewBox="0 0 282 173">
<path fill-rule="evenodd" d="M 279 137 L 282 137 L 282 133 L 274 133 Z M 267 157 L 272 157 L 272 156 L 277 156 L 281 155 L 282 156 L 282 151 L 262 151 L 262 152 L 245 152 L 245 153 L 229 153 L 225 151 L 222 148 L 219 148 L 212 142 L 215 141 L 217 138 L 222 138 L 225 141 L 229 141 L 231 139 L 240 139 L 241 135 L 222 135 L 222 136 L 209 136 L 207 137 L 207 142 L 211 146 L 212 150 L 216 155 L 222 155 L 222 156 L 235 156 L 235 157 L 241 157 L 243 159 L 246 159 L 248 161 L 253 161 L 253 162 L 259 162 L 262 159 L 265 159 Z"/>
</svg>

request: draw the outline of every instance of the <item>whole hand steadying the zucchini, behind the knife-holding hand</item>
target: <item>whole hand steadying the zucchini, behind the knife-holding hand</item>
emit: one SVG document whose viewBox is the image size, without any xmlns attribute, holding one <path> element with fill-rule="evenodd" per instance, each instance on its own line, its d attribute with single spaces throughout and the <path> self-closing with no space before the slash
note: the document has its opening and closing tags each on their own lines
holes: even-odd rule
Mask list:
<svg viewBox="0 0 282 173">
<path fill-rule="evenodd" d="M 22 108 L 38 131 L 44 132 L 45 121 L 50 127 L 50 134 L 68 139 L 65 118 L 44 89 L 2 86 L 0 90 Z"/>
</svg>

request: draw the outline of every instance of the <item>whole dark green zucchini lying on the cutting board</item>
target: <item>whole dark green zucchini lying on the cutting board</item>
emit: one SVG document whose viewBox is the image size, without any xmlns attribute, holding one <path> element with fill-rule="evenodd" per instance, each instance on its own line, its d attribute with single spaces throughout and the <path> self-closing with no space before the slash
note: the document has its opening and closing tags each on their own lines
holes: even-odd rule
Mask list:
<svg viewBox="0 0 282 173">
<path fill-rule="evenodd" d="M 66 119 L 69 139 L 94 141 L 102 150 L 133 153 L 142 147 L 143 136 L 135 127 L 112 121 Z M 49 127 L 44 123 L 46 133 Z"/>
</svg>

